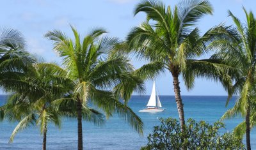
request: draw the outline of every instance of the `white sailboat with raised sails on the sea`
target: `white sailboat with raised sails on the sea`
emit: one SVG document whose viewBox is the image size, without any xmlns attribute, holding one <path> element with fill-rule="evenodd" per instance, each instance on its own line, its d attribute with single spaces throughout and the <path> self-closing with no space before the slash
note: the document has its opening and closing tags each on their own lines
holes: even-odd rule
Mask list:
<svg viewBox="0 0 256 150">
<path fill-rule="evenodd" d="M 152 93 L 148 100 L 147 109 L 140 110 L 139 112 L 163 112 L 158 94 L 156 93 L 156 85 L 153 83 Z"/>
</svg>

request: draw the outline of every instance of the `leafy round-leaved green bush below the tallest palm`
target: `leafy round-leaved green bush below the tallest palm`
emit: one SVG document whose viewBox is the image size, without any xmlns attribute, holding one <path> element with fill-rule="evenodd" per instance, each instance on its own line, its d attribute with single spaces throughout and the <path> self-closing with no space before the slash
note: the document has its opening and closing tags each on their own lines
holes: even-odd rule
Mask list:
<svg viewBox="0 0 256 150">
<path fill-rule="evenodd" d="M 180 130 L 177 119 L 160 119 L 161 125 L 154 126 L 153 133 L 148 135 L 147 149 L 244 149 L 241 139 L 234 133 L 221 134 L 225 124 L 216 122 L 213 125 L 188 119 L 185 130 Z M 183 140 L 182 140 L 183 139 Z"/>
</svg>

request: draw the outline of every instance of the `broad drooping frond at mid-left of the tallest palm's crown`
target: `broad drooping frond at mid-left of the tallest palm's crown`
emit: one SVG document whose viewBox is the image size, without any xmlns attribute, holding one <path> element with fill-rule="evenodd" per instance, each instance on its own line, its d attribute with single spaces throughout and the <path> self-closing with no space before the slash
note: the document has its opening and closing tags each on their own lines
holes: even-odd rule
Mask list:
<svg viewBox="0 0 256 150">
<path fill-rule="evenodd" d="M 150 61 L 160 61 L 164 56 L 172 56 L 174 53 L 170 50 L 172 45 L 163 39 L 161 30 L 153 29 L 148 22 L 143 22 L 140 27 L 134 27 L 127 36 L 129 49 L 135 52 L 140 58 L 149 59 Z"/>
</svg>

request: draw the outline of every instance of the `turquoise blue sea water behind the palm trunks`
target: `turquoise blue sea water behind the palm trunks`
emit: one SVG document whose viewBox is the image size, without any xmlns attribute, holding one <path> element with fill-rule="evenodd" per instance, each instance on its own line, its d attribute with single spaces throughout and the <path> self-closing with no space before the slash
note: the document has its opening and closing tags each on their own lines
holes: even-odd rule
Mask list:
<svg viewBox="0 0 256 150">
<path fill-rule="evenodd" d="M 160 117 L 178 118 L 174 96 L 159 96 L 164 112 L 147 113 L 138 112 L 144 109 L 149 96 L 132 96 L 129 106 L 136 112 L 144 123 L 144 136 L 140 137 L 136 131 L 125 123 L 124 120 L 114 116 L 102 126 L 94 126 L 83 122 L 83 141 L 85 149 L 140 149 L 147 144 L 147 135 L 152 132 L 152 127 L 159 124 Z M 226 96 L 182 96 L 184 101 L 185 117 L 193 117 L 197 121 L 205 120 L 214 123 L 227 110 L 225 108 Z M 3 105 L 6 96 L 0 95 L 0 105 Z M 230 102 L 230 107 L 234 100 Z M 225 121 L 227 131 L 232 131 L 242 119 Z M 42 136 L 38 128 L 30 127 L 15 137 L 12 144 L 8 139 L 17 123 L 0 123 L 0 149 L 42 149 Z M 252 149 L 256 149 L 256 131 L 251 133 Z M 47 133 L 47 149 L 76 149 L 77 123 L 76 119 L 64 118 L 61 130 L 50 125 Z"/>
</svg>

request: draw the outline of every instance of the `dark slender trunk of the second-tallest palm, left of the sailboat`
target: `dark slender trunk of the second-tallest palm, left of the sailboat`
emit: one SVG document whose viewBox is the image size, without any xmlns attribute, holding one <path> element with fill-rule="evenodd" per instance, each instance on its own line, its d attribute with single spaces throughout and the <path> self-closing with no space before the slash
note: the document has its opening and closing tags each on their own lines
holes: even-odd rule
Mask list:
<svg viewBox="0 0 256 150">
<path fill-rule="evenodd" d="M 77 149 L 83 150 L 82 102 L 81 102 L 81 100 L 77 100 L 77 135 L 78 135 Z"/>
</svg>

